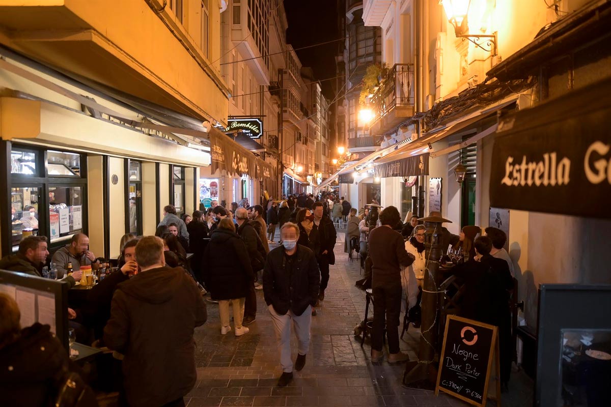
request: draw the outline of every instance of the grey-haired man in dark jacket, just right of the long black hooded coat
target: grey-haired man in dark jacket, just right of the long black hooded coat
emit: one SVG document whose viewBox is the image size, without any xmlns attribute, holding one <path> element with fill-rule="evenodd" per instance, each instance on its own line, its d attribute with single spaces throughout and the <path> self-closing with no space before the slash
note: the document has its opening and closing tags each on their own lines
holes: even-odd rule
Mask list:
<svg viewBox="0 0 611 407">
<path fill-rule="evenodd" d="M 248 220 L 248 212 L 243 207 L 238 207 L 235 210 L 235 220 L 238 222 L 238 234 L 244 240 L 246 251 L 251 259 L 252 271 L 257 275 L 257 272 L 263 270 L 265 265 L 265 248 L 255 230 L 256 220 Z M 250 325 L 255 322 L 257 317 L 257 294 L 255 293 L 254 281 L 248 285 L 246 300 L 244 300 L 244 320 L 242 325 Z"/>
</svg>

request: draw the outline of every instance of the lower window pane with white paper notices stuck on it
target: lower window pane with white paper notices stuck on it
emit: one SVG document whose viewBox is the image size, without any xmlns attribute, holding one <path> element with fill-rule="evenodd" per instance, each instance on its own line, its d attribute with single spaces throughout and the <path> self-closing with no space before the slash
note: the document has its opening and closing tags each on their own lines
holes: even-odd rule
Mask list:
<svg viewBox="0 0 611 407">
<path fill-rule="evenodd" d="M 49 187 L 49 237 L 60 237 L 82 231 L 82 187 Z"/>
</svg>

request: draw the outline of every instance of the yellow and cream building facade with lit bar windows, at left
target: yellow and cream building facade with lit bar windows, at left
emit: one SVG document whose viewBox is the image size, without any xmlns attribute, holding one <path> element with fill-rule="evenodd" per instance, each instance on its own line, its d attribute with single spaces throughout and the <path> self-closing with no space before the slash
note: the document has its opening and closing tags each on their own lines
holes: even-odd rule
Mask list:
<svg viewBox="0 0 611 407">
<path fill-rule="evenodd" d="M 167 204 L 197 209 L 210 128 L 227 126 L 226 5 L 0 1 L 3 255 L 30 233 L 57 248 L 85 232 L 116 257 Z"/>
</svg>

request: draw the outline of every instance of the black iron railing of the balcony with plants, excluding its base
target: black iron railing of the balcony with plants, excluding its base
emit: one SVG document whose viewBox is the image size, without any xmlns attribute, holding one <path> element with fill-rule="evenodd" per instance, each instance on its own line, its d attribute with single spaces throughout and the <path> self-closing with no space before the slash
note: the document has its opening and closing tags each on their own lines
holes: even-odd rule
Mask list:
<svg viewBox="0 0 611 407">
<path fill-rule="evenodd" d="M 397 63 L 382 78 L 378 89 L 373 93 L 371 103 L 375 109 L 375 119 L 379 120 L 397 106 L 414 104 L 414 65 Z"/>
</svg>

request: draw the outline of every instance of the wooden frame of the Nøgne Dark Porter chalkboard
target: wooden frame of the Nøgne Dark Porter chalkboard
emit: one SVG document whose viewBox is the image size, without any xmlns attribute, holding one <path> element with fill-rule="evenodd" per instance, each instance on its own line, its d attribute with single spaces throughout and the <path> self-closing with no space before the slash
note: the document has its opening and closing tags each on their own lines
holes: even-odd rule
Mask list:
<svg viewBox="0 0 611 407">
<path fill-rule="evenodd" d="M 444 364 L 445 342 L 448 337 L 448 326 L 450 326 L 451 319 L 459 321 L 459 322 L 466 322 L 474 326 L 480 326 L 480 328 L 492 330 L 492 343 L 490 345 L 490 351 L 488 354 L 488 362 L 486 365 L 487 366 L 486 378 L 484 382 L 484 392 L 481 397 L 481 403 L 477 403 L 474 400 L 471 400 L 470 398 L 464 397 L 463 395 L 460 395 L 456 392 L 453 392 L 439 385 L 439 382 L 441 381 L 441 370 L 443 369 L 443 364 Z M 479 322 L 479 321 L 472 320 L 472 319 L 458 317 L 457 315 L 447 315 L 447 318 L 445 319 L 444 342 L 441 347 L 441 353 L 439 354 L 439 370 L 437 370 L 437 382 L 435 384 L 435 395 L 438 395 L 439 391 L 441 390 L 444 393 L 450 394 L 453 397 L 463 400 L 463 402 L 466 402 L 466 403 L 469 403 L 475 406 L 485 407 L 486 401 L 488 400 L 488 386 L 490 384 L 490 373 L 492 370 L 492 358 L 494 358 L 495 356 L 496 356 L 496 359 L 495 359 L 494 366 L 496 367 L 495 370 L 496 370 L 496 376 L 497 376 L 496 402 L 497 402 L 497 407 L 500 407 L 501 403 L 500 403 L 500 366 L 499 366 L 499 328 L 497 328 L 497 326 L 494 326 L 494 325 L 489 325 L 488 323 L 483 323 L 483 322 Z"/>
</svg>

